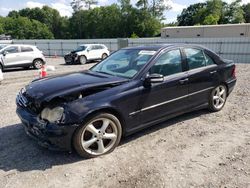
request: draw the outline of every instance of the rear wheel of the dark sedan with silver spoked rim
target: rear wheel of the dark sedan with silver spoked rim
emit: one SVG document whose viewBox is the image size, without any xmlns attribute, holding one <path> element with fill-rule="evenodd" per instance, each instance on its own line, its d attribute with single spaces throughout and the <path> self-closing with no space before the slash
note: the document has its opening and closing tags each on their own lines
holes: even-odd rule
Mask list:
<svg viewBox="0 0 250 188">
<path fill-rule="evenodd" d="M 227 87 L 219 85 L 214 88 L 209 97 L 209 110 L 212 112 L 220 111 L 226 104 Z"/>
</svg>

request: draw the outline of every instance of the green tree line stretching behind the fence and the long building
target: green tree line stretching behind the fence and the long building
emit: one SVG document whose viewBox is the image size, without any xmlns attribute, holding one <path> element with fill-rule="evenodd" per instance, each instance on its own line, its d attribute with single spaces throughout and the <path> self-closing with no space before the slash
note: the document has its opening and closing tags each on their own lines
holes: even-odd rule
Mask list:
<svg viewBox="0 0 250 188">
<path fill-rule="evenodd" d="M 164 13 L 171 7 L 164 0 L 118 0 L 97 7 L 97 0 L 72 0 L 71 17 L 63 17 L 48 6 L 11 11 L 0 17 L 0 34 L 15 39 L 91 39 L 154 37 L 165 26 Z M 250 22 L 250 3 L 230 4 L 208 0 L 183 9 L 177 22 L 169 25 L 191 26 Z"/>
</svg>

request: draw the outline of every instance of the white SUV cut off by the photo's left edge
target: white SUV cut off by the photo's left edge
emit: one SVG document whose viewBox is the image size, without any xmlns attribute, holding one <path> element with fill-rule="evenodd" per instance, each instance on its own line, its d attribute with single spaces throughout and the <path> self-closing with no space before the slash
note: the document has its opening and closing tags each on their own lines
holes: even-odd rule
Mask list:
<svg viewBox="0 0 250 188">
<path fill-rule="evenodd" d="M 0 45 L 0 69 L 13 67 L 40 69 L 46 63 L 45 57 L 36 46 Z"/>
</svg>

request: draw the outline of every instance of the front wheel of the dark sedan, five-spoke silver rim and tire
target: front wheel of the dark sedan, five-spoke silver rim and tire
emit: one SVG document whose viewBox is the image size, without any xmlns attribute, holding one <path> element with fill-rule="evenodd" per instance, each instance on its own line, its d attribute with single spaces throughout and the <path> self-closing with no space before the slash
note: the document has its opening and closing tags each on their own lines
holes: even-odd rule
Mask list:
<svg viewBox="0 0 250 188">
<path fill-rule="evenodd" d="M 81 157 L 93 158 L 112 152 L 121 136 L 118 118 L 109 113 L 98 113 L 76 130 L 73 145 Z"/>
</svg>

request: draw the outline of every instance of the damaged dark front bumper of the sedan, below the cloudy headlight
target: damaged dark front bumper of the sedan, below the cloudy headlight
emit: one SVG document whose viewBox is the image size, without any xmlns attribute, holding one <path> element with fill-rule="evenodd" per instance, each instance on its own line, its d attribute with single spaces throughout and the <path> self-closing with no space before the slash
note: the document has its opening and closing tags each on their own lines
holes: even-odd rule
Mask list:
<svg viewBox="0 0 250 188">
<path fill-rule="evenodd" d="M 77 125 L 57 125 L 42 122 L 37 115 L 17 106 L 16 113 L 21 119 L 27 135 L 39 145 L 56 151 L 72 151 L 72 136 Z"/>
</svg>

